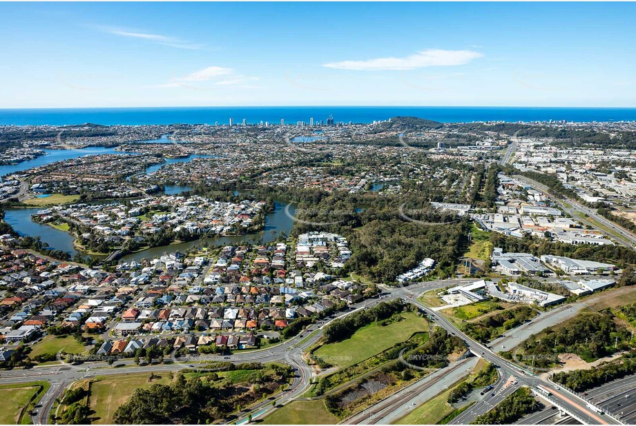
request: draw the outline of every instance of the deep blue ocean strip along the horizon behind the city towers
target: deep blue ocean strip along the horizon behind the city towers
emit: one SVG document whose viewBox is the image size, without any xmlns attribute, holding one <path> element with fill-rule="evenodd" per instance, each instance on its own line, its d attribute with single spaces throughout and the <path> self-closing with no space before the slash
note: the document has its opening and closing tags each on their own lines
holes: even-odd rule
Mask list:
<svg viewBox="0 0 636 426">
<path fill-rule="evenodd" d="M 188 107 L 188 108 L 55 108 L 0 109 L 0 125 L 66 125 L 95 123 L 103 125 L 142 124 L 235 124 L 269 121 L 286 124 L 298 121 L 335 121 L 372 123 L 393 116 L 417 116 L 445 123 L 470 121 L 636 121 L 636 108 L 541 108 L 541 107 Z"/>
</svg>

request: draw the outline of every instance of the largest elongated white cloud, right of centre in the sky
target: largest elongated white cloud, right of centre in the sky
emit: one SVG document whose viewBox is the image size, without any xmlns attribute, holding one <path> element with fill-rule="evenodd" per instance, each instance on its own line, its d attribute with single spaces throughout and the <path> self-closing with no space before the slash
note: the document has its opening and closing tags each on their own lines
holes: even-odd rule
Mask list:
<svg viewBox="0 0 636 426">
<path fill-rule="evenodd" d="M 378 58 L 366 61 L 341 61 L 325 63 L 322 66 L 338 70 L 414 70 L 416 68 L 464 65 L 473 59 L 483 57 L 472 50 L 428 49 L 402 58 Z"/>
</svg>

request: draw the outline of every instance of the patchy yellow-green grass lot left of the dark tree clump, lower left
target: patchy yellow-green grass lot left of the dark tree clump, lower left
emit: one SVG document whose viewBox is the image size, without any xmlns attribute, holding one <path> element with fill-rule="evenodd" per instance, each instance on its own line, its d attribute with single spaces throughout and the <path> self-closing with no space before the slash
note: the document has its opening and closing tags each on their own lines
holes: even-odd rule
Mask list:
<svg viewBox="0 0 636 426">
<path fill-rule="evenodd" d="M 155 383 L 166 385 L 170 383 L 168 373 L 160 373 L 161 378 L 148 382 L 150 373 L 130 374 L 122 376 L 108 376 L 90 383 L 88 407 L 93 411 L 90 417 L 95 425 L 112 425 L 115 411 L 128 401 L 135 389 L 151 387 Z"/>
</svg>

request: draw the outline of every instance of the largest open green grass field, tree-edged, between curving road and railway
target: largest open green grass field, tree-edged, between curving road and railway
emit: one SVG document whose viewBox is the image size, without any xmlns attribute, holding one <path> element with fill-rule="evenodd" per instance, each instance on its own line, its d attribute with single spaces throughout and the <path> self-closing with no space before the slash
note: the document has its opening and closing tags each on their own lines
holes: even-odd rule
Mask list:
<svg viewBox="0 0 636 426">
<path fill-rule="evenodd" d="M 425 318 L 416 316 L 412 312 L 402 316 L 404 318 L 402 321 L 384 327 L 376 323 L 367 325 L 358 329 L 351 338 L 323 345 L 314 354 L 331 365 L 346 368 L 407 340 L 414 332 L 428 331 Z"/>
</svg>

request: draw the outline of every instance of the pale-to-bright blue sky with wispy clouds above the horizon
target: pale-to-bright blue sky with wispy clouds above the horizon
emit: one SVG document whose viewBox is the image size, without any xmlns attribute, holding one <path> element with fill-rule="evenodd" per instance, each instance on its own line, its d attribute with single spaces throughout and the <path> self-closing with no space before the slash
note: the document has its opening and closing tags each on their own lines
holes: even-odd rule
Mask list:
<svg viewBox="0 0 636 426">
<path fill-rule="evenodd" d="M 0 3 L 0 108 L 636 106 L 634 3 Z"/>
</svg>

